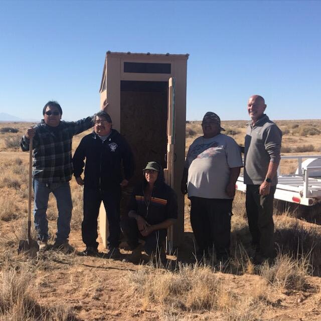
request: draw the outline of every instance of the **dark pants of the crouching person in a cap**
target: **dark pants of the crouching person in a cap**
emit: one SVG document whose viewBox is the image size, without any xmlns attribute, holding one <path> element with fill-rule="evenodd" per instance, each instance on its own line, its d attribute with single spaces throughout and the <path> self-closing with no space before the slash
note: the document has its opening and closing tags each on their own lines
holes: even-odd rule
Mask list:
<svg viewBox="0 0 321 321">
<path fill-rule="evenodd" d="M 162 248 L 167 235 L 166 229 L 153 231 L 147 236 L 142 236 L 138 230 L 136 219 L 127 216 L 121 218 L 120 226 L 131 250 L 138 246 L 138 240 L 140 239 L 145 241 L 144 250 L 148 255 L 153 253 L 158 257 L 160 253 L 164 252 L 165 249 Z"/>
</svg>

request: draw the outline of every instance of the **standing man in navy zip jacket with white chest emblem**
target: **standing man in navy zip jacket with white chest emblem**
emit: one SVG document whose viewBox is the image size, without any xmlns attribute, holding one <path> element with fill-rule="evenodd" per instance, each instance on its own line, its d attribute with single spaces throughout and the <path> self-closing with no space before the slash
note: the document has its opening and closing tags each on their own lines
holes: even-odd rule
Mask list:
<svg viewBox="0 0 321 321">
<path fill-rule="evenodd" d="M 98 112 L 93 119 L 94 131 L 81 140 L 73 157 L 76 181 L 79 185 L 84 185 L 82 239 L 86 249 L 82 253 L 84 255 L 98 253 L 97 218 L 102 201 L 109 223 L 109 251 L 118 254 L 121 187 L 127 186 L 133 175 L 133 155 L 125 138 L 111 128 L 109 114 Z M 81 174 L 85 158 L 83 180 Z"/>
</svg>

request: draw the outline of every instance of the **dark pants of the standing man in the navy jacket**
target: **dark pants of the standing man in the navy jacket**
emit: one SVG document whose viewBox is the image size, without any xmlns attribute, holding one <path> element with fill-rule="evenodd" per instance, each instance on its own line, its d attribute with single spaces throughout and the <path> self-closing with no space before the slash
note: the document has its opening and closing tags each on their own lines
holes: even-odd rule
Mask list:
<svg viewBox="0 0 321 321">
<path fill-rule="evenodd" d="M 108 191 L 99 191 L 84 188 L 84 219 L 81 225 L 82 240 L 86 246 L 97 248 L 97 218 L 101 201 L 104 203 L 108 223 L 109 236 L 107 238 L 109 248 L 118 247 L 120 235 L 120 186 Z"/>
</svg>

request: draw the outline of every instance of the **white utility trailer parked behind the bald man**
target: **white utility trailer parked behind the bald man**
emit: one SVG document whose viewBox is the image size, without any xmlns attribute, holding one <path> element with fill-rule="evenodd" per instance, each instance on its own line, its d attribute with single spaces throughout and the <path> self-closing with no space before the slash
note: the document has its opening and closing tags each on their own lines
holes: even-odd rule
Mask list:
<svg viewBox="0 0 321 321">
<path fill-rule="evenodd" d="M 295 174 L 278 172 L 274 199 L 305 206 L 321 203 L 321 155 L 281 156 L 282 159 L 297 159 L 298 168 Z M 238 177 L 236 189 L 246 192 L 243 175 Z"/>
</svg>

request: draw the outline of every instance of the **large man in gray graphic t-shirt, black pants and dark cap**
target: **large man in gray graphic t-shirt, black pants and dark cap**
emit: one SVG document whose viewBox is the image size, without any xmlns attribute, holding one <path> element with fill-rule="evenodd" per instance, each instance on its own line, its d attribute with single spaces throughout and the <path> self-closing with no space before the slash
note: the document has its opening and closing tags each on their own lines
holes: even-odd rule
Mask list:
<svg viewBox="0 0 321 321">
<path fill-rule="evenodd" d="M 191 225 L 199 247 L 199 258 L 215 247 L 219 261 L 229 257 L 232 201 L 235 182 L 242 167 L 238 144 L 221 134 L 220 118 L 207 112 L 204 135 L 191 144 L 185 162 L 182 192 L 191 200 Z"/>
</svg>

